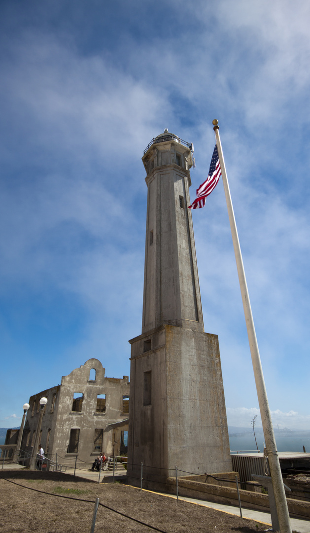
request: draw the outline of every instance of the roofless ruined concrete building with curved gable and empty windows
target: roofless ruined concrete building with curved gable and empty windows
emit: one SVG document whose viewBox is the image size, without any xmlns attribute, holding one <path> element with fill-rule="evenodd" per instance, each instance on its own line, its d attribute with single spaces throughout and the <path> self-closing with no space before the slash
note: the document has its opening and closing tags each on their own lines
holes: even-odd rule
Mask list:
<svg viewBox="0 0 310 533">
<path fill-rule="evenodd" d="M 39 442 L 48 458 L 55 459 L 58 454 L 75 459 L 78 454 L 79 459 L 89 463 L 100 451 L 105 455 L 127 451 L 128 376 L 112 378 L 104 374 L 101 362 L 89 359 L 63 376 L 60 385 L 31 396 L 21 449 L 32 450 L 39 400 L 46 397 Z"/>
</svg>

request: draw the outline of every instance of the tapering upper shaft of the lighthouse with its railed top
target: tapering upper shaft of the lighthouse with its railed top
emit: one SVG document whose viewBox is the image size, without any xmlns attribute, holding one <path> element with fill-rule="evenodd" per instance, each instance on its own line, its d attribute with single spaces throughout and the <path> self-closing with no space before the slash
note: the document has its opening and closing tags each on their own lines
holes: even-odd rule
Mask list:
<svg viewBox="0 0 310 533">
<path fill-rule="evenodd" d="M 192 216 L 187 209 L 191 150 L 175 135 L 159 135 L 142 161 L 148 173 L 142 333 L 162 324 L 203 331 Z"/>
</svg>

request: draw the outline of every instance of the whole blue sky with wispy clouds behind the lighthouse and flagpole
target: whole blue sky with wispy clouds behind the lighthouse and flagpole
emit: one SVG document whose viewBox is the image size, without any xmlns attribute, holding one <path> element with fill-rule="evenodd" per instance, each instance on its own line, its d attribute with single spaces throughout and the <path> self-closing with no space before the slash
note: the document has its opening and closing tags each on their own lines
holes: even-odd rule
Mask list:
<svg viewBox="0 0 310 533">
<path fill-rule="evenodd" d="M 2 0 L 0 426 L 91 357 L 129 375 L 143 150 L 165 127 L 193 142 L 193 199 L 217 118 L 273 422 L 310 429 L 309 21 L 303 0 Z M 222 182 L 193 223 L 228 421 L 248 426 L 258 401 Z"/>
</svg>

